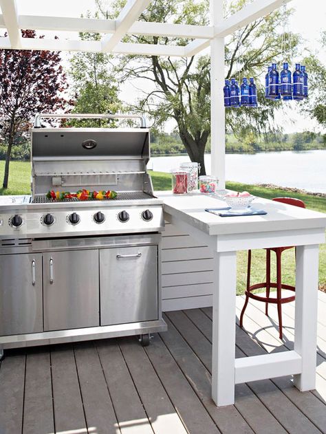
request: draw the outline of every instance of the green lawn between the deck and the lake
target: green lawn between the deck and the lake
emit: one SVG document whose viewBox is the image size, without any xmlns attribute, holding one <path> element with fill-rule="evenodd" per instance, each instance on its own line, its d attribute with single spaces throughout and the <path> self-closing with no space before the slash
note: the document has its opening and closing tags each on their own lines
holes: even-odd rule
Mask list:
<svg viewBox="0 0 326 434">
<path fill-rule="evenodd" d="M 0 177 L 3 178 L 4 162 L 0 161 Z M 150 172 L 153 180 L 153 186 L 156 191 L 170 190 L 171 175 L 162 172 Z M 325 197 L 316 197 L 303 193 L 292 193 L 283 191 L 278 188 L 265 188 L 262 186 L 253 186 L 249 184 L 241 184 L 239 182 L 227 182 L 226 187 L 231 190 L 250 191 L 253 195 L 272 199 L 276 196 L 297 197 L 305 202 L 307 208 L 326 213 Z M 30 163 L 29 162 L 11 162 L 9 188 L 3 191 L 0 188 L 0 194 L 6 195 L 21 195 L 30 193 Z M 283 253 L 283 283 L 294 285 L 295 276 L 295 258 L 294 249 L 287 250 Z M 319 262 L 319 282 L 320 287 L 326 286 L 326 245 L 320 246 L 320 262 Z M 237 293 L 243 294 L 246 287 L 246 262 L 247 252 L 238 252 L 238 274 L 237 274 Z M 275 255 L 272 252 L 272 279 L 276 279 L 276 263 Z M 265 281 L 265 250 L 253 250 L 252 253 L 252 283 Z"/>
</svg>

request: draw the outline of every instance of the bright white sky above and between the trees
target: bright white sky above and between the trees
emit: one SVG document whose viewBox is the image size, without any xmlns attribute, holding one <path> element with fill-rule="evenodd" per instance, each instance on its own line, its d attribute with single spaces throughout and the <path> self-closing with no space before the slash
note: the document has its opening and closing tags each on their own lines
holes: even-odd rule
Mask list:
<svg viewBox="0 0 326 434">
<path fill-rule="evenodd" d="M 320 32 L 326 30 L 326 1 L 325 0 L 292 0 L 288 3 L 289 7 L 294 8 L 295 12 L 290 20 L 290 30 L 301 34 L 305 45 L 309 50 L 316 52 L 321 61 L 326 64 L 326 50 L 321 50 Z M 49 15 L 56 17 L 80 17 L 86 10 L 95 10 L 94 0 L 17 0 L 17 9 L 20 14 Z M 66 33 L 61 37 L 76 37 L 75 34 Z M 69 58 L 69 54 L 65 54 Z M 300 62 L 301 58 L 294 59 Z M 135 91 L 131 85 L 125 85 L 121 92 L 122 100 L 133 102 L 131 95 Z M 133 97 L 134 98 L 134 97 Z M 296 109 L 295 102 L 285 107 L 288 116 L 283 112 L 276 113 L 277 124 L 283 127 L 286 133 L 294 131 L 305 131 L 307 129 L 321 131 L 318 124 L 309 118 L 303 117 Z M 168 129 L 172 125 L 167 125 Z"/>
</svg>

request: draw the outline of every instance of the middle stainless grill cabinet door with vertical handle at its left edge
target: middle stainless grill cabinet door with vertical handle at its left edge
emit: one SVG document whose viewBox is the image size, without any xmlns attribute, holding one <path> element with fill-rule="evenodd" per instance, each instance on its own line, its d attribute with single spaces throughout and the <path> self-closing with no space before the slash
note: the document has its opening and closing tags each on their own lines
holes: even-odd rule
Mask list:
<svg viewBox="0 0 326 434">
<path fill-rule="evenodd" d="M 43 255 L 44 329 L 99 325 L 98 250 Z"/>
</svg>

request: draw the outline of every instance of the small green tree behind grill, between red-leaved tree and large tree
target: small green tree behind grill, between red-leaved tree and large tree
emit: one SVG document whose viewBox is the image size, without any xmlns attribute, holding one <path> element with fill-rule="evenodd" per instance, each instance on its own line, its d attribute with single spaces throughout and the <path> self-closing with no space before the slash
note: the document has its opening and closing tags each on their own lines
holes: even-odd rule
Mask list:
<svg viewBox="0 0 326 434">
<path fill-rule="evenodd" d="M 90 14 L 87 14 L 90 18 Z M 96 15 L 98 18 L 98 15 Z M 80 32 L 82 41 L 100 41 L 100 34 Z M 72 113 L 116 113 L 122 107 L 118 98 L 118 83 L 113 75 L 111 56 L 94 52 L 78 52 L 70 61 L 69 75 L 75 103 Z M 113 121 L 69 120 L 67 124 L 80 127 L 105 127 Z"/>
</svg>

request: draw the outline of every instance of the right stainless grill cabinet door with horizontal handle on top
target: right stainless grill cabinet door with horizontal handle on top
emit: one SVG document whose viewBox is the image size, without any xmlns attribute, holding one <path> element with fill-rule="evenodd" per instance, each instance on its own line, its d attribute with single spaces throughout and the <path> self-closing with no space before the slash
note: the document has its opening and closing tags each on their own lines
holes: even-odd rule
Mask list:
<svg viewBox="0 0 326 434">
<path fill-rule="evenodd" d="M 100 250 L 101 325 L 157 319 L 157 246 Z"/>
</svg>

